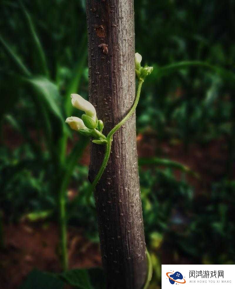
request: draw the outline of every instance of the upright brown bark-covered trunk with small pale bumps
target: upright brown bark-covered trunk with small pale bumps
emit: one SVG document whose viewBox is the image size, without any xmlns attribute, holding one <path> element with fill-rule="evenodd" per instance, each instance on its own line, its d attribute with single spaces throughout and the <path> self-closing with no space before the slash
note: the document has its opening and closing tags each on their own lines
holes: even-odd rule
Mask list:
<svg viewBox="0 0 235 289">
<path fill-rule="evenodd" d="M 87 0 L 89 101 L 107 133 L 135 99 L 133 0 Z M 104 147 L 91 145 L 93 181 Z M 135 114 L 118 130 L 95 190 L 107 288 L 139 289 L 145 282 L 145 237 L 140 199 Z"/>
</svg>

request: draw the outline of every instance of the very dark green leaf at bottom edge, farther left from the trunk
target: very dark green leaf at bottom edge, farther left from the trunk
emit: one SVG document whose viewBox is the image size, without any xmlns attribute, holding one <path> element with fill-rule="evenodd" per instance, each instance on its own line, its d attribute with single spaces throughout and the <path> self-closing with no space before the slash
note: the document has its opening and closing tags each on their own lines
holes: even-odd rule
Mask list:
<svg viewBox="0 0 235 289">
<path fill-rule="evenodd" d="M 63 289 L 64 283 L 54 275 L 34 269 L 19 289 Z"/>
</svg>

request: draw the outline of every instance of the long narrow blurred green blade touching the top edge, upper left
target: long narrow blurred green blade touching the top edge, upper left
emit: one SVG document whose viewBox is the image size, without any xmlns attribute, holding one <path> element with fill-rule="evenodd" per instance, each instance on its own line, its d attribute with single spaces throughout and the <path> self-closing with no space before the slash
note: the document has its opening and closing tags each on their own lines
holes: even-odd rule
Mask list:
<svg viewBox="0 0 235 289">
<path fill-rule="evenodd" d="M 30 34 L 31 34 L 31 38 L 32 38 L 31 42 L 34 43 L 33 47 L 35 49 L 35 56 L 38 59 L 37 65 L 39 68 L 39 72 L 43 73 L 45 76 L 49 77 L 49 71 L 48 71 L 47 64 L 46 64 L 46 56 L 44 54 L 41 42 L 40 42 L 38 35 L 36 33 L 36 29 L 33 25 L 33 21 L 31 19 L 31 16 L 30 16 L 29 12 L 26 10 L 26 8 L 24 7 L 24 5 L 22 4 L 22 2 L 19 1 L 19 3 L 20 3 L 21 8 L 24 12 L 26 23 L 28 25 L 28 29 L 29 29 Z"/>
</svg>

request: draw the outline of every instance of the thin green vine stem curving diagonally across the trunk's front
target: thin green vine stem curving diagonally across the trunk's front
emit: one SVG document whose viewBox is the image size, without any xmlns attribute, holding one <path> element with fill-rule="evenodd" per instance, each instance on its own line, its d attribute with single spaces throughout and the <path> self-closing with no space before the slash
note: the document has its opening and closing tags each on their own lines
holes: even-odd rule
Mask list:
<svg viewBox="0 0 235 289">
<path fill-rule="evenodd" d="M 108 133 L 108 136 L 106 138 L 106 149 L 105 149 L 105 156 L 104 156 L 104 159 L 103 159 L 103 163 L 100 167 L 100 170 L 98 171 L 98 174 L 96 175 L 93 183 L 91 184 L 91 189 L 90 189 L 90 192 L 88 193 L 88 198 L 90 198 L 90 195 L 91 193 L 94 191 L 95 189 L 95 186 L 97 185 L 97 183 L 99 182 L 104 170 L 105 170 L 105 167 L 107 166 L 107 163 L 108 163 L 108 159 L 109 159 L 109 156 L 110 156 L 110 151 L 111 151 L 111 145 L 112 145 L 112 140 L 113 140 L 113 134 L 128 120 L 128 118 L 130 118 L 130 116 L 133 114 L 133 112 L 135 111 L 136 107 L 137 107 L 137 104 L 139 102 L 139 99 L 140 99 L 140 91 L 141 91 L 141 87 L 142 87 L 142 84 L 143 84 L 143 80 L 140 79 L 138 81 L 138 88 L 137 88 L 137 93 L 136 93 L 136 97 L 135 97 L 135 101 L 133 103 L 133 106 L 132 108 L 130 109 L 130 111 L 127 113 L 127 115 L 117 124 L 115 125 L 115 127 Z"/>
</svg>

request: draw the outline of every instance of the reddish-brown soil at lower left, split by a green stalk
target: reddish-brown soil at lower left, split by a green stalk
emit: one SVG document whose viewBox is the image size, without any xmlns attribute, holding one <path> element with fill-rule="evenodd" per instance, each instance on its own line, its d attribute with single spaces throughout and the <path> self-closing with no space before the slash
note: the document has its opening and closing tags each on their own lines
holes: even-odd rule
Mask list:
<svg viewBox="0 0 235 289">
<path fill-rule="evenodd" d="M 83 237 L 83 230 L 68 228 L 69 267 L 101 266 L 99 245 Z M 33 269 L 60 272 L 58 230 L 54 223 L 19 223 L 5 226 L 5 248 L 0 252 L 0 288 L 17 288 Z"/>
</svg>

